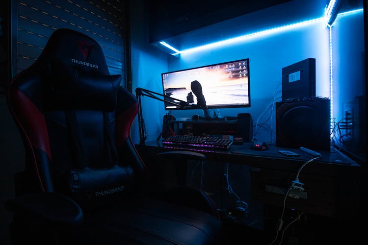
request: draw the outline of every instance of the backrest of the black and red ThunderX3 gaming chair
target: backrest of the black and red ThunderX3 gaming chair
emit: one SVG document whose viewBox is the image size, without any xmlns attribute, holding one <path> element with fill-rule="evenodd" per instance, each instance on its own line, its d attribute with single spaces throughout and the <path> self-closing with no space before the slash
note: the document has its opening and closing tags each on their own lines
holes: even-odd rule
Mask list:
<svg viewBox="0 0 368 245">
<path fill-rule="evenodd" d="M 18 194 L 61 192 L 83 202 L 145 183 L 129 137 L 138 104 L 120 82 L 95 40 L 70 29 L 53 32 L 9 86 L 8 106 L 26 150 Z"/>
</svg>

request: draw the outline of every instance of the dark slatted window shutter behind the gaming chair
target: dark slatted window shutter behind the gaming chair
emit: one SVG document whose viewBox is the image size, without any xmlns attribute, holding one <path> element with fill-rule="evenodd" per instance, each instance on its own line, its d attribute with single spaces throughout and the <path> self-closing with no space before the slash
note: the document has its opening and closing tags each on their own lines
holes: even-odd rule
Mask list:
<svg viewBox="0 0 368 245">
<path fill-rule="evenodd" d="M 111 74 L 122 74 L 125 86 L 125 14 L 122 0 L 18 0 L 17 71 L 40 55 L 50 35 L 70 28 L 95 39 Z"/>
</svg>

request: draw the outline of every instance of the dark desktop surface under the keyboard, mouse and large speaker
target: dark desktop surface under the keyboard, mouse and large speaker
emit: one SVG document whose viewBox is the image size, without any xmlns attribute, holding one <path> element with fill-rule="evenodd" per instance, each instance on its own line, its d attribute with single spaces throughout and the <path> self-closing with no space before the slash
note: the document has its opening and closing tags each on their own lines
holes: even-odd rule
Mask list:
<svg viewBox="0 0 368 245">
<path fill-rule="evenodd" d="M 283 171 L 296 172 L 298 168 L 314 156 L 295 148 L 276 147 L 268 145 L 267 150 L 253 150 L 252 143 L 243 145 L 233 145 L 228 150 L 197 149 L 189 147 L 163 147 L 161 140 L 146 142 L 144 146 L 137 145 L 138 150 L 152 150 L 152 152 L 162 152 L 169 150 L 191 150 L 201 152 L 208 160 L 225 161 L 238 164 L 249 165 L 255 168 L 270 168 Z M 285 156 L 278 150 L 290 150 L 299 153 L 299 156 Z M 308 164 L 303 172 L 320 172 L 326 175 L 339 175 L 341 171 L 355 171 L 360 169 L 360 165 L 344 155 L 335 148 L 330 150 L 315 150 L 321 154 L 319 159 Z M 331 168 L 333 167 L 333 168 Z"/>
</svg>

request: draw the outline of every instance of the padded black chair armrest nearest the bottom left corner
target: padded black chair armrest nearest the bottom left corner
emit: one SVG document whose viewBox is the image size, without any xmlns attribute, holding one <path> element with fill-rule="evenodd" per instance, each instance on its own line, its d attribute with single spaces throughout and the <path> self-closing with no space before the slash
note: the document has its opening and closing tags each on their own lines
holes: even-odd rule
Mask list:
<svg viewBox="0 0 368 245">
<path fill-rule="evenodd" d="M 24 218 L 43 221 L 57 227 L 80 225 L 83 211 L 68 196 L 52 192 L 29 193 L 5 202 L 5 207 Z"/>
</svg>

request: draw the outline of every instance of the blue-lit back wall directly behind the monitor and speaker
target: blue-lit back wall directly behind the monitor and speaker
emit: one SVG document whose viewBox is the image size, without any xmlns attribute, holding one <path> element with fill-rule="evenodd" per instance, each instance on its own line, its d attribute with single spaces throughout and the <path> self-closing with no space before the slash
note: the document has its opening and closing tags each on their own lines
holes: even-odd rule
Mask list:
<svg viewBox="0 0 368 245">
<path fill-rule="evenodd" d="M 329 34 L 323 21 L 280 33 L 254 37 L 237 45 L 224 46 L 212 50 L 181 54 L 180 59 L 170 59 L 169 71 L 249 58 L 251 107 L 243 109 L 221 109 L 222 116 L 237 116 L 238 113 L 250 113 L 254 123 L 276 97 L 281 96 L 282 68 L 306 58 L 316 59 L 316 95 L 329 95 Z M 278 88 L 276 90 L 276 88 Z M 277 101 L 280 101 L 279 98 Z M 266 110 L 259 123 L 263 123 L 271 114 Z M 173 111 L 177 117 L 188 117 L 193 113 L 202 115 L 201 111 Z M 272 126 L 275 113 L 273 112 Z M 268 121 L 271 126 L 271 122 Z M 269 128 L 263 127 L 256 138 L 271 141 Z M 262 133 L 263 132 L 263 133 Z M 275 136 L 273 135 L 273 140 Z"/>
</svg>

